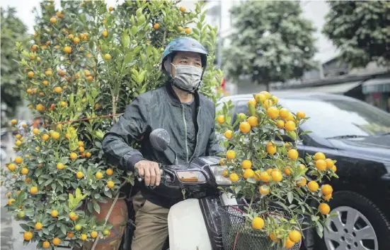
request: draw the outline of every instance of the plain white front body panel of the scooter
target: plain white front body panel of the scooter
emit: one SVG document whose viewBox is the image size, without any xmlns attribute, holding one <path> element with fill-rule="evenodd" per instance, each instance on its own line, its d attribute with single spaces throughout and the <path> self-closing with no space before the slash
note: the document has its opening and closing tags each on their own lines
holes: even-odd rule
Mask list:
<svg viewBox="0 0 390 250">
<path fill-rule="evenodd" d="M 236 198 L 222 194 L 224 205 L 237 205 Z M 170 250 L 212 250 L 205 220 L 196 198 L 180 201 L 168 213 Z"/>
</svg>

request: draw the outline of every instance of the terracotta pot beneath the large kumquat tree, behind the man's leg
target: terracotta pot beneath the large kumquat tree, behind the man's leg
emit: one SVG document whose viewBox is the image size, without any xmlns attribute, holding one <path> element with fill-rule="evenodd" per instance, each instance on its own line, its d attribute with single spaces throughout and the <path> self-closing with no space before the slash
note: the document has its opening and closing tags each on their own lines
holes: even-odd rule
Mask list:
<svg viewBox="0 0 390 250">
<path fill-rule="evenodd" d="M 99 206 L 101 206 L 101 213 L 94 213 L 98 222 L 104 222 L 105 216 L 114 201 L 113 198 L 106 198 L 106 200 L 107 203 L 99 203 Z M 99 239 L 95 250 L 119 249 L 120 243 L 122 242 L 122 235 L 126 230 L 127 217 L 127 204 L 125 202 L 125 198 L 118 198 L 107 222 L 107 224 L 109 223 L 110 225 L 113 225 L 113 228 L 110 230 L 110 235 Z M 93 243 L 94 242 L 84 242 L 84 245 L 80 250 L 92 249 Z M 78 248 L 74 249 L 79 250 Z"/>
</svg>

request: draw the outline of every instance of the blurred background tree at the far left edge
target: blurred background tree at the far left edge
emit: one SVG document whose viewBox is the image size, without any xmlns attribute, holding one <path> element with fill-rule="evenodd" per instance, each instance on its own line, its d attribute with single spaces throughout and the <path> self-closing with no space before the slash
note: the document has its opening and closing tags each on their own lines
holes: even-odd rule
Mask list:
<svg viewBox="0 0 390 250">
<path fill-rule="evenodd" d="M 15 42 L 26 42 L 26 30 L 22 20 L 16 17 L 15 8 L 1 8 L 1 112 L 6 114 L 1 117 L 1 126 L 6 125 L 7 118 L 13 117 L 21 104 L 21 77 L 14 61 L 18 60 L 18 54 L 13 49 Z"/>
</svg>

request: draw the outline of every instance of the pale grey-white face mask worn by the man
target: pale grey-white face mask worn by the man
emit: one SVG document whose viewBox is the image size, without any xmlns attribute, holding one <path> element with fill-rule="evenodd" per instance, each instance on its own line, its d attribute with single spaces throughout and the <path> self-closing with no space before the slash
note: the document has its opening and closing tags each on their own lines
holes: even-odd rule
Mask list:
<svg viewBox="0 0 390 250">
<path fill-rule="evenodd" d="M 195 92 L 202 83 L 203 69 L 195 66 L 173 65 L 175 67 L 175 76 L 173 85 L 188 92 Z"/>
</svg>

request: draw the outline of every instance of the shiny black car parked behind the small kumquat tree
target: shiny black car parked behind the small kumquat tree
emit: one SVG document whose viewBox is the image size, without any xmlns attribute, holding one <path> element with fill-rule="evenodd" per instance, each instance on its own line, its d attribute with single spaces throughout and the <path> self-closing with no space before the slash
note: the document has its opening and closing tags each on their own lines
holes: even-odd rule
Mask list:
<svg viewBox="0 0 390 250">
<path fill-rule="evenodd" d="M 313 231 L 305 234 L 306 249 L 390 249 L 390 114 L 343 95 L 271 94 L 283 107 L 310 117 L 300 128 L 311 133 L 302 135 L 299 155 L 323 152 L 337 160 L 339 179 L 329 183 L 334 189 L 329 205 L 338 216 L 329 220 L 323 239 Z M 233 95 L 219 102 L 233 102 L 234 122 L 236 114 L 248 113 L 252 98 Z"/>
</svg>

